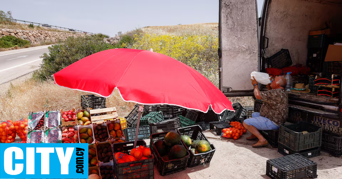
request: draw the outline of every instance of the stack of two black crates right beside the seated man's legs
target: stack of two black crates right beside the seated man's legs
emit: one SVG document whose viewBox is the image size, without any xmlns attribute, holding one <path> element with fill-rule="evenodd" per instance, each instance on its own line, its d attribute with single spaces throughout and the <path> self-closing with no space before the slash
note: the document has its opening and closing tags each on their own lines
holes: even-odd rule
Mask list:
<svg viewBox="0 0 342 179">
<path fill-rule="evenodd" d="M 297 124 L 279 127 L 278 152 L 283 155 L 299 153 L 305 157 L 320 155 L 323 129 L 314 124 L 299 121 Z"/>
</svg>

